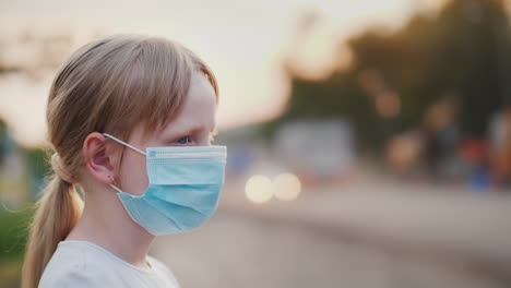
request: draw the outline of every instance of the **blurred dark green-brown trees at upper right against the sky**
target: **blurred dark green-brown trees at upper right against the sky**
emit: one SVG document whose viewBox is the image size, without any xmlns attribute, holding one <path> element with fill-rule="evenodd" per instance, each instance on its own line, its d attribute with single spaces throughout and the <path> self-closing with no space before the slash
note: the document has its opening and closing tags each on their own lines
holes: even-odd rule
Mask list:
<svg viewBox="0 0 511 288">
<path fill-rule="evenodd" d="M 490 116 L 511 103 L 510 36 L 503 0 L 451 0 L 438 15 L 417 14 L 394 33 L 370 28 L 348 40 L 352 64 L 326 80 L 287 69 L 287 110 L 266 129 L 342 117 L 354 124 L 361 151 L 379 152 L 391 135 L 421 127 L 428 107 L 450 98 L 459 105 L 461 136 L 484 137 Z"/>
</svg>

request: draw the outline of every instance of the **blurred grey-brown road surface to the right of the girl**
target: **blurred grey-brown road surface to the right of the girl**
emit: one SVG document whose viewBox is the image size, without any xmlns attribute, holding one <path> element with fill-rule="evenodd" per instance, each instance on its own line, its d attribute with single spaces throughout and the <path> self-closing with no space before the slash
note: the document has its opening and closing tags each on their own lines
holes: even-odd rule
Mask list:
<svg viewBox="0 0 511 288">
<path fill-rule="evenodd" d="M 253 205 L 230 188 L 201 229 L 158 238 L 152 254 L 182 287 L 511 287 L 511 199 L 428 189 Z"/>
</svg>

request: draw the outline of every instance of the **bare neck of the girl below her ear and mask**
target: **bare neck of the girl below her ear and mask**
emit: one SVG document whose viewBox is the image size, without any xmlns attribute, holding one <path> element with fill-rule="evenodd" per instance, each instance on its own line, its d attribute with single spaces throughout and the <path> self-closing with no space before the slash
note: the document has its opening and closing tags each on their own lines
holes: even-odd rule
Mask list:
<svg viewBox="0 0 511 288">
<path fill-rule="evenodd" d="M 130 218 L 116 192 L 94 192 L 99 193 L 85 192 L 82 217 L 66 240 L 93 242 L 132 265 L 147 268 L 146 255 L 155 236 Z"/>
</svg>

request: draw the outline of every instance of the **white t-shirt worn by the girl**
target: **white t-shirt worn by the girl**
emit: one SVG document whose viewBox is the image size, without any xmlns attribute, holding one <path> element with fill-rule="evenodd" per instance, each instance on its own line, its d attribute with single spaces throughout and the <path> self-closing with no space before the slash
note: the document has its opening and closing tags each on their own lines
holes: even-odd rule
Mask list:
<svg viewBox="0 0 511 288">
<path fill-rule="evenodd" d="M 43 273 L 39 288 L 136 287 L 179 288 L 165 264 L 147 255 L 141 269 L 88 241 L 61 241 Z"/>
</svg>

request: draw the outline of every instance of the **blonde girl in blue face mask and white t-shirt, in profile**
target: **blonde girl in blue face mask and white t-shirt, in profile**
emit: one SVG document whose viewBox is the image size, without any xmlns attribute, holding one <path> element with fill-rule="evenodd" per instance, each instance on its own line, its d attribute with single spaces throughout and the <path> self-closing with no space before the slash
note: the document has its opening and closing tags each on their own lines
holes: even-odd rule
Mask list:
<svg viewBox="0 0 511 288">
<path fill-rule="evenodd" d="M 167 39 L 117 35 L 76 50 L 49 93 L 56 173 L 36 204 L 22 286 L 179 287 L 147 251 L 216 209 L 217 95 L 207 65 Z"/>
</svg>

